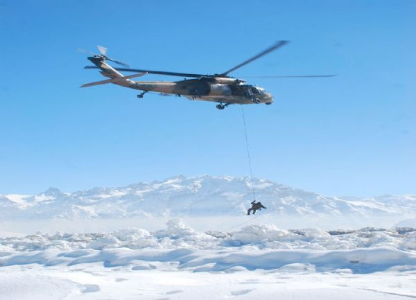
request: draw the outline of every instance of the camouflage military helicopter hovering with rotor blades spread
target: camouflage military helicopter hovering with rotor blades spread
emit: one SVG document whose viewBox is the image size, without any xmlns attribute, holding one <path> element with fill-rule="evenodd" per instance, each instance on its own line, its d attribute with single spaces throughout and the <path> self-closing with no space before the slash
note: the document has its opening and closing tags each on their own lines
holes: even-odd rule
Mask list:
<svg viewBox="0 0 416 300">
<path fill-rule="evenodd" d="M 90 82 L 81 87 L 91 87 L 93 85 L 105 85 L 113 83 L 114 85 L 121 85 L 122 87 L 129 87 L 130 89 L 141 90 L 138 98 L 148 92 L 157 92 L 162 95 L 184 96 L 190 100 L 202 100 L 218 103 L 216 108 L 224 109 L 230 104 L 260 104 L 264 103 L 270 105 L 273 102 L 272 94 L 268 93 L 261 87 L 253 85 L 246 85 L 245 80 L 228 76 L 229 73 L 239 69 L 245 64 L 248 64 L 263 55 L 266 55 L 277 48 L 288 44 L 288 41 L 278 41 L 266 50 L 254 55 L 252 58 L 245 60 L 241 64 L 236 65 L 223 73 L 219 74 L 193 74 L 193 73 L 177 73 L 167 71 L 152 71 L 144 69 L 130 69 L 128 64 L 108 58 L 106 56 L 107 48 L 97 46 L 100 54 L 94 54 L 87 57 L 87 59 L 95 64 L 95 66 L 87 66 L 84 69 L 100 69 L 100 73 L 110 79 L 101 80 L 97 82 Z M 79 48 L 78 48 L 79 49 Z M 83 49 L 79 49 L 83 51 Z M 87 52 L 87 51 L 85 51 Z M 123 68 L 114 68 L 107 64 L 106 61 L 120 64 Z M 136 72 L 133 75 L 123 76 L 120 71 Z M 166 81 L 133 81 L 131 78 L 137 78 L 146 74 L 157 74 L 165 76 L 179 76 L 185 78 L 184 80 L 175 82 Z M 310 77 L 332 77 L 335 75 L 309 75 L 309 76 L 263 76 L 263 78 L 310 78 Z M 194 78 L 194 79 L 186 79 Z M 260 76 L 261 78 L 261 76 Z"/>
</svg>

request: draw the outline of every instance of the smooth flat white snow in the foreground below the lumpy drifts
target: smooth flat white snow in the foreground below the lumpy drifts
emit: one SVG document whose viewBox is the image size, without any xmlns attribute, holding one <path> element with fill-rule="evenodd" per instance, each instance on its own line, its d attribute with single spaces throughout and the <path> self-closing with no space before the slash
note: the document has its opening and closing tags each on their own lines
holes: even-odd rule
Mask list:
<svg viewBox="0 0 416 300">
<path fill-rule="evenodd" d="M 398 300 L 416 297 L 415 268 L 372 274 L 286 270 L 168 272 L 130 266 L 2 267 L 0 300 L 78 299 L 324 299 Z"/>
</svg>

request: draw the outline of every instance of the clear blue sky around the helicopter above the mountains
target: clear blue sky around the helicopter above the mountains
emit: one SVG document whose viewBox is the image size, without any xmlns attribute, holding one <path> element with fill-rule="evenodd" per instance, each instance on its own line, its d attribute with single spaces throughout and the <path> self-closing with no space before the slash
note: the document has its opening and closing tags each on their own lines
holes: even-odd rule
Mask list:
<svg viewBox="0 0 416 300">
<path fill-rule="evenodd" d="M 253 175 L 329 195 L 416 193 L 415 1 L 0 1 L 0 193 L 172 175 L 248 176 L 241 108 L 102 80 L 77 47 L 132 67 L 261 79 Z M 179 80 L 146 76 L 142 80 Z"/>
</svg>

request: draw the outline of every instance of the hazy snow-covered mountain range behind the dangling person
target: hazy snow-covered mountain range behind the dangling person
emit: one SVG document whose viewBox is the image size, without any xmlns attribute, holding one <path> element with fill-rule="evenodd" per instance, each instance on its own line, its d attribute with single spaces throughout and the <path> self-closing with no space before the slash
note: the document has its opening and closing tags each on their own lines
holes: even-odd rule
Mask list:
<svg viewBox="0 0 416 300">
<path fill-rule="evenodd" d="M 183 177 L 119 188 L 0 195 L 0 218 L 130 218 L 240 215 L 253 199 L 248 177 Z M 254 178 L 257 200 L 277 215 L 383 216 L 416 213 L 416 195 L 329 197 Z"/>
</svg>

